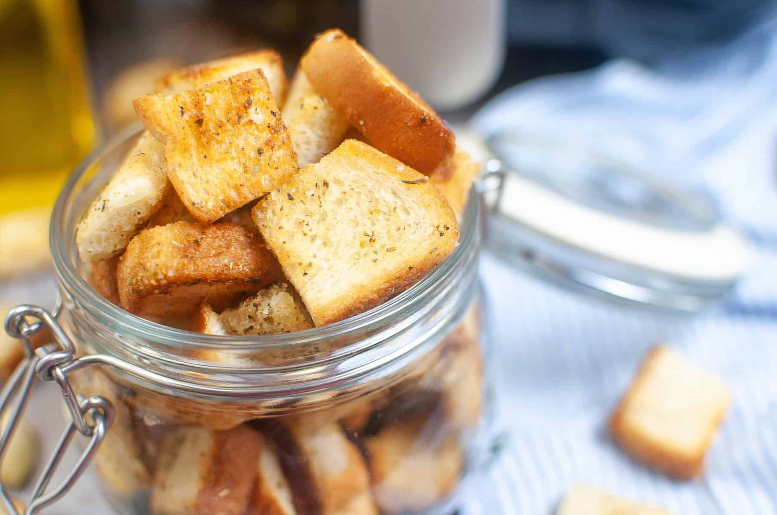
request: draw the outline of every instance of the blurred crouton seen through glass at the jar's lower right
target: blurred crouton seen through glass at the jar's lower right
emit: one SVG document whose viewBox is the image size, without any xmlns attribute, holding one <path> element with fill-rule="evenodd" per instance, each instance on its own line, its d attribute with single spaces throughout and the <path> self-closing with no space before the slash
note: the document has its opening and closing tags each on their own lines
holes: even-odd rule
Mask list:
<svg viewBox="0 0 777 515">
<path fill-rule="evenodd" d="M 365 441 L 372 493 L 383 513 L 427 510 L 451 495 L 464 468 L 455 436 L 423 437 L 424 417 L 393 423 Z"/>
</svg>

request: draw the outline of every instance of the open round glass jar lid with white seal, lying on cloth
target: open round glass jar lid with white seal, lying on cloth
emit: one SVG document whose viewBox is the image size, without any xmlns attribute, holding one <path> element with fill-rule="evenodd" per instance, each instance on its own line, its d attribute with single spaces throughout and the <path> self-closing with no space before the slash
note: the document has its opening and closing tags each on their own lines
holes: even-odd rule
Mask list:
<svg viewBox="0 0 777 515">
<path fill-rule="evenodd" d="M 693 312 L 730 292 L 747 266 L 747 241 L 721 221 L 708 195 L 570 141 L 510 130 L 479 146 L 486 247 L 524 271 Z"/>
</svg>

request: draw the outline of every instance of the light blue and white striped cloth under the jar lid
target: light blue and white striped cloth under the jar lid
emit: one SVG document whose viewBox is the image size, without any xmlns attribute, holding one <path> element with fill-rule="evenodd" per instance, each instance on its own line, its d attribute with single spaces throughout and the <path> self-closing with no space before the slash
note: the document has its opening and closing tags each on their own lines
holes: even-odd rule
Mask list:
<svg viewBox="0 0 777 515">
<path fill-rule="evenodd" d="M 486 255 L 503 450 L 463 513 L 553 513 L 583 483 L 682 514 L 777 513 L 777 24 L 653 69 L 616 61 L 518 86 L 474 119 L 588 138 L 705 187 L 756 256 L 722 306 L 696 316 L 615 306 L 545 285 Z M 591 137 L 594 135 L 594 137 Z M 733 405 L 706 473 L 675 482 L 611 442 L 609 413 L 663 340 L 720 375 Z"/>
</svg>

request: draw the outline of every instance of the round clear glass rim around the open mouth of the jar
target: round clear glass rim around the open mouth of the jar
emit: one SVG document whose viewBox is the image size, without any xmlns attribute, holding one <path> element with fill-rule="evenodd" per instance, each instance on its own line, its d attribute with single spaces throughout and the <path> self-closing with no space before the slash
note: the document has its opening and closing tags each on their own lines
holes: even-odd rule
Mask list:
<svg viewBox="0 0 777 515">
<path fill-rule="evenodd" d="M 155 344 L 169 347 L 189 347 L 197 350 L 235 349 L 242 350 L 273 350 L 290 345 L 311 343 L 315 340 L 325 340 L 332 337 L 344 337 L 358 334 L 361 331 L 381 327 L 389 320 L 395 319 L 401 313 L 412 313 L 413 309 L 423 305 L 430 292 L 438 291 L 446 282 L 452 280 L 453 272 L 472 261 L 479 244 L 480 209 L 479 202 L 468 202 L 465 214 L 460 220 L 459 242 L 455 251 L 441 264 L 430 271 L 419 282 L 406 291 L 389 299 L 389 301 L 373 309 L 352 316 L 346 320 L 322 327 L 295 331 L 294 333 L 270 334 L 262 336 L 218 336 L 194 333 L 189 330 L 177 329 L 161 323 L 146 320 L 129 313 L 105 299 L 96 292 L 92 285 L 82 277 L 76 265 L 75 224 L 82 216 L 78 213 L 66 213 L 68 203 L 73 199 L 76 188 L 85 181 L 100 159 L 111 150 L 126 144 L 140 132 L 139 124 L 128 127 L 110 140 L 103 143 L 75 168 L 68 181 L 65 182 L 51 216 L 49 244 L 54 262 L 54 270 L 61 284 L 65 285 L 71 295 L 77 297 L 89 306 L 91 313 L 99 316 L 99 320 L 112 320 L 112 327 L 119 328 L 117 333 L 122 336 L 140 340 L 150 340 Z M 476 194 L 471 192 L 471 200 Z"/>
</svg>

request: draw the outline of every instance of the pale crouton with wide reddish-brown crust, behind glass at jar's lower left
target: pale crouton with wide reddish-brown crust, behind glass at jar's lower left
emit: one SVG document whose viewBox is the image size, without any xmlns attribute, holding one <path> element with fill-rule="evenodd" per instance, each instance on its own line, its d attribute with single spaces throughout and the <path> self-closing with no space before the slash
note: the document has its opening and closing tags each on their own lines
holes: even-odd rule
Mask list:
<svg viewBox="0 0 777 515">
<path fill-rule="evenodd" d="M 172 430 L 154 476 L 153 513 L 246 513 L 261 447 L 260 434 L 244 426 Z"/>
</svg>

